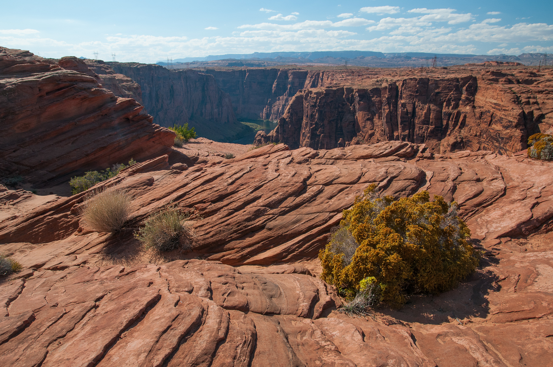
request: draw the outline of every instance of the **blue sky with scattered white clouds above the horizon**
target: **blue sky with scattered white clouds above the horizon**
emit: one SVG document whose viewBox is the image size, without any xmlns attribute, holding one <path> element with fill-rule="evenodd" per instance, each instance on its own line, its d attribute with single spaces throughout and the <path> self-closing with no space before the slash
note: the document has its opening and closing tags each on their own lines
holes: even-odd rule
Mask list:
<svg viewBox="0 0 553 367">
<path fill-rule="evenodd" d="M 553 1 L 0 0 L 0 46 L 156 62 L 272 51 L 553 53 Z"/>
</svg>

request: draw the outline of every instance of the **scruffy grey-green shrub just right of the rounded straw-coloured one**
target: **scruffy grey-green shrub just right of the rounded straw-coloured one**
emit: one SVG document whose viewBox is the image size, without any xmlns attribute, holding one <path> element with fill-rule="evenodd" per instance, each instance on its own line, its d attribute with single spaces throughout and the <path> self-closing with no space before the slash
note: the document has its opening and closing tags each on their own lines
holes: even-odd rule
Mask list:
<svg viewBox="0 0 553 367">
<path fill-rule="evenodd" d="M 184 247 L 189 247 L 190 233 L 182 224 L 188 217 L 179 209 L 165 208 L 149 216 L 144 222 L 144 227 L 140 228 L 134 237 L 147 249 L 171 251 L 182 247 L 181 243 Z"/>
</svg>

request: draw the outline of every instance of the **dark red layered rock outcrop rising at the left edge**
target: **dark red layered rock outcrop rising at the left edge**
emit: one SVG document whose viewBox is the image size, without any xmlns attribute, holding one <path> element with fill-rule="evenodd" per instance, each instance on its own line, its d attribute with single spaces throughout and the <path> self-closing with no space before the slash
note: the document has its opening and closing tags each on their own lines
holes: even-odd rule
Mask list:
<svg viewBox="0 0 553 367">
<path fill-rule="evenodd" d="M 0 174 L 44 187 L 131 158 L 181 156 L 137 101 L 103 89 L 80 60 L 56 61 L 0 49 Z"/>
</svg>

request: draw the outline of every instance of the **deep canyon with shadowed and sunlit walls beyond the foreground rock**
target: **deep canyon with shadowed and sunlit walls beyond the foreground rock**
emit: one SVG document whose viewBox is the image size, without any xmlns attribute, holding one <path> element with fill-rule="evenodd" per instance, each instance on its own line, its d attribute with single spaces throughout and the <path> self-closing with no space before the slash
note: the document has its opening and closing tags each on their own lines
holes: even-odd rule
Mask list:
<svg viewBox="0 0 553 367">
<path fill-rule="evenodd" d="M 553 132 L 551 69 L 538 74 L 527 67 L 488 63 L 420 69 L 176 71 L 107 64 L 131 76 L 143 91 L 147 88 L 144 104 L 156 118 L 175 123 L 199 116 L 199 123 L 191 123 L 199 132 L 204 131 L 201 124 L 213 126 L 206 120 L 220 121 L 221 133 L 231 134 L 228 138 L 200 136 L 221 141 L 243 131 L 234 127 L 237 119 L 263 119 L 278 122 L 278 127 L 266 137 L 260 133 L 255 144 L 333 149 L 401 140 L 426 144 L 438 154 L 468 149 L 512 155 L 527 147 L 530 135 Z M 190 84 L 192 75 L 199 84 Z"/>
</svg>

